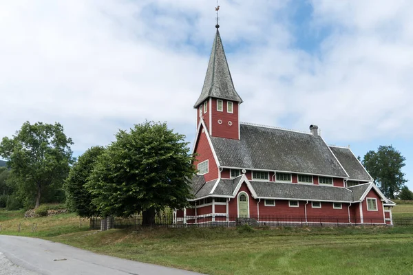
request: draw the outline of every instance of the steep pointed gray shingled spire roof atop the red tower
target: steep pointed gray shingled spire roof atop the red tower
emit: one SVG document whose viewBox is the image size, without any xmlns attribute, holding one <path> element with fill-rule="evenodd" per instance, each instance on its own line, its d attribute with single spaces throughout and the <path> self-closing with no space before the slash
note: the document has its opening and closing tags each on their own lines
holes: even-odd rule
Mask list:
<svg viewBox="0 0 413 275">
<path fill-rule="evenodd" d="M 209 97 L 242 102 L 241 97 L 235 91 L 218 29 L 212 45 L 204 87 L 202 87 L 201 95 L 193 107 L 198 107 L 199 104 Z"/>
</svg>

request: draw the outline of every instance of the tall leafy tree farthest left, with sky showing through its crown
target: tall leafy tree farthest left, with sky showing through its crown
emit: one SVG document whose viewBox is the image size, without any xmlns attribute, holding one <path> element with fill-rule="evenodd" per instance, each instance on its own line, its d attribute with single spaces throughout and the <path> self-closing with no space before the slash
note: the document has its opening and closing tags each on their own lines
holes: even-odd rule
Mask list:
<svg viewBox="0 0 413 275">
<path fill-rule="evenodd" d="M 61 188 L 72 163 L 72 139 L 59 123 L 25 122 L 12 138 L 3 137 L 0 155 L 8 160 L 19 195 L 39 207 L 42 195 Z"/>
</svg>

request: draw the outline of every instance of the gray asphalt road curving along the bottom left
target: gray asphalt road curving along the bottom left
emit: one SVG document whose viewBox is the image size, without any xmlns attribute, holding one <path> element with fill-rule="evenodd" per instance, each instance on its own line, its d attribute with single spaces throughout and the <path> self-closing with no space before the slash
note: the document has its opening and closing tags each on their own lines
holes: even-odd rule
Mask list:
<svg viewBox="0 0 413 275">
<path fill-rule="evenodd" d="M 3 253 L 3 255 L 0 253 L 0 275 L 198 274 L 100 255 L 62 243 L 23 236 L 0 236 L 0 252 Z"/>
</svg>

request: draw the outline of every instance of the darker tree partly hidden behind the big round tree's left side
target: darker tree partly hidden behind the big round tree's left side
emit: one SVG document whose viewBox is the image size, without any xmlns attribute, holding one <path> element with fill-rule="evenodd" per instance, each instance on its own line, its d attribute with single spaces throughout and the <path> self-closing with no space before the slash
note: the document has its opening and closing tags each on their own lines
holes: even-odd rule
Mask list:
<svg viewBox="0 0 413 275">
<path fill-rule="evenodd" d="M 102 146 L 87 149 L 83 155 L 78 157 L 65 181 L 67 204 L 80 217 L 92 217 L 99 214 L 96 206 L 92 204 L 92 194 L 86 189 L 85 184 L 94 169 L 96 160 L 103 152 L 105 148 Z"/>
</svg>

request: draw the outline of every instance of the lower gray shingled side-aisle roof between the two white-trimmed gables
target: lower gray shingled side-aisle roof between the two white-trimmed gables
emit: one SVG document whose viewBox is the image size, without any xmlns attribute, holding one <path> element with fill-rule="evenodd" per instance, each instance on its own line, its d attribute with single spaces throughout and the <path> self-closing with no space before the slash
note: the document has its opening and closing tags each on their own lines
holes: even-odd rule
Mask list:
<svg viewBox="0 0 413 275">
<path fill-rule="evenodd" d="M 250 181 L 258 197 L 308 199 L 311 201 L 352 201 L 352 192 L 330 186 L 282 184 L 269 181 Z"/>
</svg>

